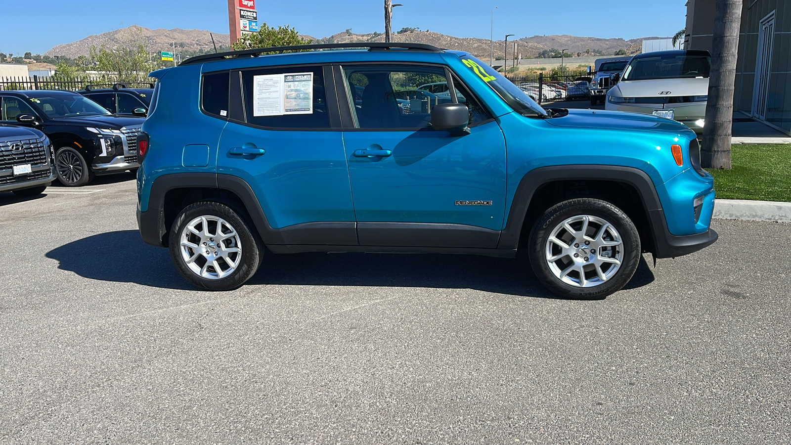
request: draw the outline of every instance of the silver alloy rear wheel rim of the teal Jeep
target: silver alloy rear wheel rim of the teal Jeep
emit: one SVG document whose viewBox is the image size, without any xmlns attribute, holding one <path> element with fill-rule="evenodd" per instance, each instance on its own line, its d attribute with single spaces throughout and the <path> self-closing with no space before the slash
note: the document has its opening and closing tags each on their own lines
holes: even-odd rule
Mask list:
<svg viewBox="0 0 791 445">
<path fill-rule="evenodd" d="M 220 280 L 237 270 L 242 245 L 237 230 L 218 216 L 190 221 L 179 236 L 181 259 L 195 275 Z"/>
</svg>

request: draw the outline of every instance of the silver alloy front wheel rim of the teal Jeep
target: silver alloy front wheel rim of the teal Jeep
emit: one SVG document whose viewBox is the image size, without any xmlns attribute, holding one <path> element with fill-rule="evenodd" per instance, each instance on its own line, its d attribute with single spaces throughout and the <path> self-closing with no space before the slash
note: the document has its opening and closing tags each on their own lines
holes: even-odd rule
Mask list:
<svg viewBox="0 0 791 445">
<path fill-rule="evenodd" d="M 610 222 L 577 215 L 552 229 L 544 253 L 555 278 L 574 287 L 595 287 L 623 262 L 623 240 Z"/>
</svg>

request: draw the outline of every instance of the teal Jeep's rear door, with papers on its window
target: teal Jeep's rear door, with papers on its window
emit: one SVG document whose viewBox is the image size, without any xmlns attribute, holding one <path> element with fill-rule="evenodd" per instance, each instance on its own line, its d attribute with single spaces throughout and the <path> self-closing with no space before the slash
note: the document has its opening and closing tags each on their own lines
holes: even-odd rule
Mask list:
<svg viewBox="0 0 791 445">
<path fill-rule="evenodd" d="M 332 123 L 337 105 L 330 116 L 327 102 L 337 99 L 325 92 L 324 68 L 255 68 L 230 78 L 218 182 L 232 175 L 250 185 L 273 230 L 267 244 L 357 245 L 343 131 Z"/>
</svg>

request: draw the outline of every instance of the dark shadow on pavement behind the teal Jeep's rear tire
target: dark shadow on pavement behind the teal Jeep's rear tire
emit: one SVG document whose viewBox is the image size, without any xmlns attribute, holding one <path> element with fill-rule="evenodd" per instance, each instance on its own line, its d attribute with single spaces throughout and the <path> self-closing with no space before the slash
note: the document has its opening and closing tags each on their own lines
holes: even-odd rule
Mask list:
<svg viewBox="0 0 791 445">
<path fill-rule="evenodd" d="M 197 290 L 173 267 L 168 249 L 147 245 L 137 230 L 118 230 L 61 245 L 47 252 L 58 268 L 91 280 Z"/>
</svg>

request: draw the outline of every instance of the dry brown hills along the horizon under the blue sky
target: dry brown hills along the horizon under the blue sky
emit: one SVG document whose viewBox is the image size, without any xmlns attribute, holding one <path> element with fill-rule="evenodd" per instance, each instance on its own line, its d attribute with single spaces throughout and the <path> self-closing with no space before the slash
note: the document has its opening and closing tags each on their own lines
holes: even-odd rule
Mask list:
<svg viewBox="0 0 791 445">
<path fill-rule="evenodd" d="M 70 44 L 60 44 L 47 51 L 45 55 L 66 55 L 74 58 L 78 55 L 88 55 L 91 46 L 99 48 L 102 44 L 113 46 L 128 36 L 133 29 L 141 29 L 142 36 L 146 39 L 149 51 L 171 51 L 175 42 L 176 51 L 185 53 L 203 53 L 214 51 L 208 31 L 200 29 L 148 29 L 133 25 L 125 29 L 116 29 L 103 34 L 85 37 Z M 354 42 L 384 42 L 384 35 L 380 32 L 357 34 L 354 32 L 338 32 L 332 36 L 315 38 L 303 35 L 316 43 L 354 43 Z M 456 49 L 470 52 L 480 59 L 489 59 L 491 42 L 488 39 L 475 37 L 454 37 L 431 31 L 407 31 L 393 34 L 393 41 L 407 43 L 432 44 L 439 48 Z M 600 39 L 596 37 L 577 36 L 532 36 L 518 39 L 520 53 L 523 58 L 536 58 L 541 51 L 550 49 L 568 49 L 574 55 L 585 54 L 590 50 L 590 55 L 613 55 L 615 51 L 623 49 L 629 54 L 639 52 L 643 39 Z M 509 40 L 510 42 L 511 40 Z M 218 48 L 229 46 L 228 34 L 214 34 L 214 42 Z M 509 52 L 512 51 L 509 44 Z M 225 48 L 224 48 L 225 49 Z M 494 57 L 502 59 L 505 50 L 503 40 L 494 41 Z"/>
</svg>

